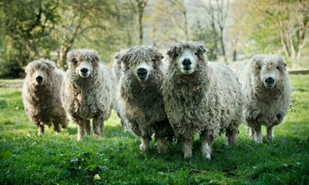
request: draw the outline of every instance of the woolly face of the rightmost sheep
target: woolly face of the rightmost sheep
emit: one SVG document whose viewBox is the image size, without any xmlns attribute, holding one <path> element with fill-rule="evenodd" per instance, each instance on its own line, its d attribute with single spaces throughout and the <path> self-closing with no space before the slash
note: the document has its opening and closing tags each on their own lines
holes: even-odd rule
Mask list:
<svg viewBox="0 0 309 185">
<path fill-rule="evenodd" d="M 253 56 L 252 60 L 255 75 L 265 88 L 275 88 L 286 73 L 286 63 L 282 56 Z"/>
</svg>

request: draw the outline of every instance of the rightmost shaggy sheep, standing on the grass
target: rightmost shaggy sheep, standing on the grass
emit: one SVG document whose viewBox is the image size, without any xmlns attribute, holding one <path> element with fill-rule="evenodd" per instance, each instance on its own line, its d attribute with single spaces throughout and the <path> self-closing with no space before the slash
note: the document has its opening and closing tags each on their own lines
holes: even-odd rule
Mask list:
<svg viewBox="0 0 309 185">
<path fill-rule="evenodd" d="M 249 127 L 250 138 L 262 143 L 261 127 L 265 125 L 267 139 L 273 140 L 273 127 L 282 123 L 290 103 L 290 82 L 284 58 L 255 55 L 229 66 L 242 84 L 244 122 Z"/>
</svg>

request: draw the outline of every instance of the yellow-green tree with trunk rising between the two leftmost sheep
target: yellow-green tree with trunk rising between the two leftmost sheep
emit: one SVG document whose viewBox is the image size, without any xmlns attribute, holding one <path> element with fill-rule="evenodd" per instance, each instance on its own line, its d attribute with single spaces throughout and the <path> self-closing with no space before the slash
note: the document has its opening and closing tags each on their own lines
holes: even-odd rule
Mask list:
<svg viewBox="0 0 309 185">
<path fill-rule="evenodd" d="M 58 8 L 58 14 L 62 15 L 60 21 L 53 25 L 52 34 L 57 43 L 55 50 L 58 54 L 58 66 L 64 68 L 66 55 L 77 40 L 84 36 L 89 29 L 101 29 L 105 14 L 102 10 L 108 10 L 106 1 L 65 1 Z"/>
</svg>

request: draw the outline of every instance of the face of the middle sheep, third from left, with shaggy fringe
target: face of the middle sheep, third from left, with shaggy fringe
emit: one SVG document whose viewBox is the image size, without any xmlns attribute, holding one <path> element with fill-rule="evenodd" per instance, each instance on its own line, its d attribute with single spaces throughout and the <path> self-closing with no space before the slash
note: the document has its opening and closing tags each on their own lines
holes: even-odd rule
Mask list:
<svg viewBox="0 0 309 185">
<path fill-rule="evenodd" d="M 139 82 L 146 82 L 154 71 L 159 70 L 163 56 L 155 47 L 134 47 L 122 55 L 125 73 L 133 74 Z"/>
</svg>

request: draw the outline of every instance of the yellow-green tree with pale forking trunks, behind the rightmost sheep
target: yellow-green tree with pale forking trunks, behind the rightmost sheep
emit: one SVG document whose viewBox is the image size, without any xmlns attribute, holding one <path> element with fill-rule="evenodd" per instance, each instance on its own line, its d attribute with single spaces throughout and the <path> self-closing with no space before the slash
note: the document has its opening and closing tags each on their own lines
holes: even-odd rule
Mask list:
<svg viewBox="0 0 309 185">
<path fill-rule="evenodd" d="M 290 66 L 301 58 L 305 48 L 309 30 L 309 2 L 305 0 L 244 1 L 247 7 L 247 23 L 255 23 L 256 32 L 264 34 L 264 38 L 255 38 L 258 42 L 268 38 L 268 45 L 281 45 L 282 51 L 290 61 Z M 247 4 L 246 4 L 247 3 Z M 254 17 L 259 17 L 256 20 Z M 255 19 L 255 21 L 252 21 Z M 266 34 L 268 32 L 268 34 Z M 258 35 L 258 34 L 257 34 Z M 254 35 L 253 35 L 254 36 Z M 255 35 L 256 36 L 256 35 Z M 269 38 L 272 37 L 272 42 Z"/>
</svg>

